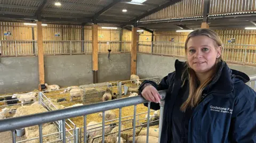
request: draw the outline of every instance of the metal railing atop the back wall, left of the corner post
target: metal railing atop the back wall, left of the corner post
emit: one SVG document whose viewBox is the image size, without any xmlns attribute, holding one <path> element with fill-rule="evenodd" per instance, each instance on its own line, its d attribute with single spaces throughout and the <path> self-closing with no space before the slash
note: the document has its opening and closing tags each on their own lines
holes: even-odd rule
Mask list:
<svg viewBox="0 0 256 143">
<path fill-rule="evenodd" d="M 99 53 L 130 52 L 131 41 L 98 41 Z M 44 55 L 91 54 L 92 41 L 43 40 Z M 37 40 L 0 40 L 1 56 L 37 55 Z"/>
</svg>

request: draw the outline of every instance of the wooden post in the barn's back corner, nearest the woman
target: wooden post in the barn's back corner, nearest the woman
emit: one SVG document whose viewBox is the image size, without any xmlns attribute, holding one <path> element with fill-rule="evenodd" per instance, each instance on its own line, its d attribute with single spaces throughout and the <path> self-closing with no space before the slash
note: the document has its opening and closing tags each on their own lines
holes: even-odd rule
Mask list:
<svg viewBox="0 0 256 143">
<path fill-rule="evenodd" d="M 137 72 L 137 27 L 132 28 L 131 74 Z"/>
</svg>

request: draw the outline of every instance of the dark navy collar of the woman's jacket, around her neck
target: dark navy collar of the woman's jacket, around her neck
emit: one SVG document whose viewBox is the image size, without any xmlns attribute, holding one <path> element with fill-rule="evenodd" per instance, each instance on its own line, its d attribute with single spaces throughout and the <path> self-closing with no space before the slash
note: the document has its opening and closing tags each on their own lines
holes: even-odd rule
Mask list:
<svg viewBox="0 0 256 143">
<path fill-rule="evenodd" d="M 181 79 L 182 73 L 187 70 L 186 62 L 175 61 L 175 79 Z M 188 72 L 185 72 L 187 74 Z M 188 80 L 188 74 L 185 75 Z M 230 95 L 228 93 L 234 90 L 234 83 L 236 82 L 248 82 L 250 78 L 243 72 L 229 69 L 228 65 L 224 61 L 218 63 L 218 70 L 211 83 L 204 89 L 206 94 L 210 92 L 216 92 L 218 95 Z M 233 95 L 234 96 L 234 95 Z"/>
</svg>

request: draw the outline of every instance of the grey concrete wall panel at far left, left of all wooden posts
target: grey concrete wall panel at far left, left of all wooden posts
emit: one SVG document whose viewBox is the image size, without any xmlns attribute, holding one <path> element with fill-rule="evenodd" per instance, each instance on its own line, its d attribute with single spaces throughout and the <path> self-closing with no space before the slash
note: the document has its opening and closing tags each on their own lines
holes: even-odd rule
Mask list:
<svg viewBox="0 0 256 143">
<path fill-rule="evenodd" d="M 38 88 L 37 57 L 0 57 L 0 94 Z"/>
</svg>

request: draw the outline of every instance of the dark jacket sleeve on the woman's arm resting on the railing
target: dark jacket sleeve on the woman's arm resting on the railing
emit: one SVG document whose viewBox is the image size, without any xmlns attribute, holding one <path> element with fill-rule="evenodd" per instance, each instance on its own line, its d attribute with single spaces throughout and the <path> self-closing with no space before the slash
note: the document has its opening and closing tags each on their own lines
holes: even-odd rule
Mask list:
<svg viewBox="0 0 256 143">
<path fill-rule="evenodd" d="M 150 84 L 152 86 L 154 86 L 158 91 L 159 90 L 165 90 L 165 89 L 168 89 L 169 88 L 169 84 L 173 81 L 174 79 L 174 75 L 175 75 L 175 72 L 172 72 L 172 73 L 169 73 L 168 75 L 166 75 L 162 80 L 161 82 L 159 83 L 159 85 L 157 85 L 156 82 L 154 81 L 151 81 L 151 80 L 145 80 L 141 83 L 140 87 L 139 87 L 139 95 L 141 95 L 141 92 L 143 90 L 143 87 L 145 84 Z M 144 106 L 148 106 L 148 103 L 144 103 Z M 154 103 L 154 102 L 151 102 L 150 103 L 150 108 L 153 109 L 153 110 L 159 110 L 160 109 L 160 106 L 159 106 L 159 103 Z"/>
</svg>

